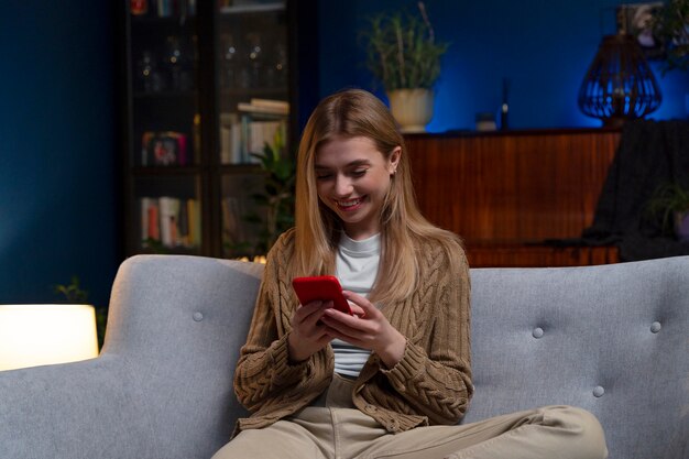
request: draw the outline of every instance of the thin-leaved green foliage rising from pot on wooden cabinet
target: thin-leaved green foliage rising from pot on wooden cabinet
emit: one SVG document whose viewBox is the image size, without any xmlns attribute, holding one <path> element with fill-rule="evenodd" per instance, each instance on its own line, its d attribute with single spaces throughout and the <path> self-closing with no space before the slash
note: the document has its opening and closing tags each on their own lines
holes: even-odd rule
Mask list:
<svg viewBox="0 0 689 459">
<path fill-rule="evenodd" d="M 440 75 L 440 57 L 449 43 L 436 41 L 424 3 L 418 2 L 418 15 L 381 12 L 368 18 L 368 23 L 360 32 L 367 66 L 385 90 L 430 89 Z"/>
</svg>

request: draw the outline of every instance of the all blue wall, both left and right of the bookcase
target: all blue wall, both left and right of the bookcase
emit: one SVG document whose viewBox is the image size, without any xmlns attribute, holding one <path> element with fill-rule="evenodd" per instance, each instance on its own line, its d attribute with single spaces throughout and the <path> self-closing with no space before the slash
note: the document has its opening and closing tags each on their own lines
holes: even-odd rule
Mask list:
<svg viewBox="0 0 689 459">
<path fill-rule="evenodd" d="M 120 241 L 109 3 L 0 6 L 0 304 L 55 300 L 52 286 L 72 275 L 92 303 L 108 302 Z M 599 125 L 576 97 L 619 3 L 427 0 L 437 35 L 452 42 L 429 130 L 472 129 L 475 112 L 497 109 L 503 77 L 513 128 Z M 320 0 L 319 97 L 373 87 L 357 31 L 363 15 L 401 4 L 415 2 Z M 686 118 L 689 74 L 656 75 L 664 102 L 653 117 Z"/>
</svg>

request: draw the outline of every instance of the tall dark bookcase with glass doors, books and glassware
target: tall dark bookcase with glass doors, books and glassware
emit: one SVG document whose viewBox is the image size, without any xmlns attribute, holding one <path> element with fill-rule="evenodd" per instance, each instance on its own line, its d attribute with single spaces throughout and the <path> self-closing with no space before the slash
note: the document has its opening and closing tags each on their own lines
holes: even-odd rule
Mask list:
<svg viewBox="0 0 689 459">
<path fill-rule="evenodd" d="M 252 153 L 292 154 L 315 0 L 120 1 L 123 255 L 254 254 Z"/>
</svg>

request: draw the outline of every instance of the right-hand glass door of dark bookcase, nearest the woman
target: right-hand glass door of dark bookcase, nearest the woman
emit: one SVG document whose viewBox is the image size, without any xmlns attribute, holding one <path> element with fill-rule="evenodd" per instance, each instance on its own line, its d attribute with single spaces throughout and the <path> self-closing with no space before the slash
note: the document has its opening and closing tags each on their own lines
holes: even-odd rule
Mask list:
<svg viewBox="0 0 689 459">
<path fill-rule="evenodd" d="M 286 154 L 289 120 L 284 1 L 222 1 L 216 13 L 217 161 L 223 256 L 264 254 L 264 149 Z M 263 252 L 263 253 L 261 253 Z"/>
</svg>

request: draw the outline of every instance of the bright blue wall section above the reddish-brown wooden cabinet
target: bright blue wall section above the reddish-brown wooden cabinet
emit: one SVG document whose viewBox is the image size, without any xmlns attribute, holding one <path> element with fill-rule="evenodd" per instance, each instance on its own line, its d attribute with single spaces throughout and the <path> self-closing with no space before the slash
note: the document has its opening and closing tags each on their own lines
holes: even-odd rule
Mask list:
<svg viewBox="0 0 689 459">
<path fill-rule="evenodd" d="M 626 3 L 631 2 L 626 1 Z M 527 128 L 598 127 L 577 107 L 577 92 L 604 34 L 615 32 L 612 0 L 426 0 L 436 36 L 451 42 L 436 87 L 430 132 L 473 129 L 477 112 L 501 103 L 503 77 L 511 81 L 510 125 Z M 357 31 L 364 17 L 411 0 L 321 0 L 320 97 L 354 86 L 374 89 L 363 67 Z M 689 116 L 689 73 L 661 77 L 653 65 L 664 100 L 656 119 Z M 380 88 L 375 92 L 385 97 Z"/>
</svg>

